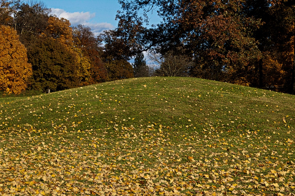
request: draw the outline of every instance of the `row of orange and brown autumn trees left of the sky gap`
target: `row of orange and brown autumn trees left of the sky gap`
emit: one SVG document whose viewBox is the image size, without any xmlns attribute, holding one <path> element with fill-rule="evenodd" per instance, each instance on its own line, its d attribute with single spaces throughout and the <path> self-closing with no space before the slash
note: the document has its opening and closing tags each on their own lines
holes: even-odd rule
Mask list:
<svg viewBox="0 0 295 196">
<path fill-rule="evenodd" d="M 43 2 L 1 0 L 0 90 L 45 92 L 134 77 L 116 44 L 87 26 L 71 26 Z"/>
</svg>

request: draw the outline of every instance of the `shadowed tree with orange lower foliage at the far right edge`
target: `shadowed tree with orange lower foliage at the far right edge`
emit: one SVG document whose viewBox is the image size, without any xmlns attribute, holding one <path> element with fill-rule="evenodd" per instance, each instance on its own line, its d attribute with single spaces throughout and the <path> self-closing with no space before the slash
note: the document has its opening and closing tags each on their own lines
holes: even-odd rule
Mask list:
<svg viewBox="0 0 295 196">
<path fill-rule="evenodd" d="M 287 89 L 293 59 L 293 11 L 280 0 L 248 0 L 244 13 L 261 21 L 253 38 L 258 41 L 261 58 L 255 61 L 253 86 Z M 292 52 L 291 52 L 292 51 Z M 291 55 L 290 55 L 291 54 Z M 256 82 L 255 82 L 256 81 Z"/>
</svg>

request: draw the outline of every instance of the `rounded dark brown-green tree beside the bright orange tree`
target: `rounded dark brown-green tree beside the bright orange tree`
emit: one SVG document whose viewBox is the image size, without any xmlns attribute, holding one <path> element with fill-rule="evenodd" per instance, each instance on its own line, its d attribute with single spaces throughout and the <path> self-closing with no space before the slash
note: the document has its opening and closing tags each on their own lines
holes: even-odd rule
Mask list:
<svg viewBox="0 0 295 196">
<path fill-rule="evenodd" d="M 51 37 L 36 39 L 28 48 L 29 62 L 33 75 L 31 89 L 45 92 L 78 87 L 79 67 L 73 51 Z"/>
</svg>

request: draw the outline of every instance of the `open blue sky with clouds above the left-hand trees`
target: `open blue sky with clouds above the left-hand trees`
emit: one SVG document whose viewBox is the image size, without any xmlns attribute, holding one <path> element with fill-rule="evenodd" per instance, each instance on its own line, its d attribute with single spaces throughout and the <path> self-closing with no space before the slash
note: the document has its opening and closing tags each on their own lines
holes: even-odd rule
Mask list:
<svg viewBox="0 0 295 196">
<path fill-rule="evenodd" d="M 68 19 L 72 26 L 89 26 L 95 36 L 116 28 L 120 4 L 117 0 L 41 0 L 59 18 Z"/>
</svg>

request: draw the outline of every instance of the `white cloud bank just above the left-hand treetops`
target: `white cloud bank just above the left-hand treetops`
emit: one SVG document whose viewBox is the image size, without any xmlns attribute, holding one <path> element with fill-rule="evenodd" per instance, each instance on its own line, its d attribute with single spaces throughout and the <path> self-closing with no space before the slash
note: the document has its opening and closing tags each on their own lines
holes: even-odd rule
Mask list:
<svg viewBox="0 0 295 196">
<path fill-rule="evenodd" d="M 70 21 L 72 26 L 82 24 L 89 26 L 95 36 L 103 33 L 105 30 L 114 29 L 114 26 L 110 23 L 92 23 L 91 19 L 95 17 L 95 13 L 88 12 L 67 12 L 63 9 L 51 8 L 51 13 L 55 14 L 58 18 L 65 18 Z"/>
</svg>

